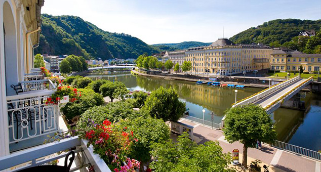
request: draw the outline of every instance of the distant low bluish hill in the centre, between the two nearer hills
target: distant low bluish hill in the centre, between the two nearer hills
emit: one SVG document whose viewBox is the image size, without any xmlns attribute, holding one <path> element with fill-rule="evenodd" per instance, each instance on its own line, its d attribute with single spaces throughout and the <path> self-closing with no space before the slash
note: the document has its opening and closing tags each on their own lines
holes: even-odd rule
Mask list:
<svg viewBox="0 0 321 172">
<path fill-rule="evenodd" d="M 197 42 L 197 41 L 184 41 L 184 42 L 173 43 L 173 44 L 154 44 L 152 46 L 155 46 L 160 50 L 166 50 L 168 48 L 172 48 L 173 50 L 185 50 L 191 47 L 203 47 L 203 46 L 209 46 L 211 44 L 212 42 L 205 43 L 205 42 Z"/>
</svg>

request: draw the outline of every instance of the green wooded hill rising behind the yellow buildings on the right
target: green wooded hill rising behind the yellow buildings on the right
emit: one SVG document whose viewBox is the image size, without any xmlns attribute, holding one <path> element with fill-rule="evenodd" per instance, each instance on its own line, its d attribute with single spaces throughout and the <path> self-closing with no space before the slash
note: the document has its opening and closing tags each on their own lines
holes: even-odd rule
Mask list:
<svg viewBox="0 0 321 172">
<path fill-rule="evenodd" d="M 298 36 L 300 32 L 314 29 L 318 31 L 321 27 L 321 20 L 299 20 L 299 19 L 276 19 L 264 22 L 257 27 L 251 27 L 231 38 L 236 44 L 251 44 L 260 42 L 266 45 L 284 44 Z"/>
</svg>

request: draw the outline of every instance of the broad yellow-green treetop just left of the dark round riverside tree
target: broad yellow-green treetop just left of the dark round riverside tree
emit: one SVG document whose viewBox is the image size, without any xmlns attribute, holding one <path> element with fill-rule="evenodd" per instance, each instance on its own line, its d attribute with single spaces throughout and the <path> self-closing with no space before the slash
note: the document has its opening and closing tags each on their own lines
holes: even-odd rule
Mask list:
<svg viewBox="0 0 321 172">
<path fill-rule="evenodd" d="M 102 123 L 105 119 L 109 121 L 118 121 L 125 118 L 135 118 L 138 112 L 133 110 L 133 106 L 128 102 L 113 102 L 108 103 L 106 106 L 95 106 L 89 108 L 84 112 L 77 126 L 86 128 L 92 121 L 95 123 Z"/>
</svg>

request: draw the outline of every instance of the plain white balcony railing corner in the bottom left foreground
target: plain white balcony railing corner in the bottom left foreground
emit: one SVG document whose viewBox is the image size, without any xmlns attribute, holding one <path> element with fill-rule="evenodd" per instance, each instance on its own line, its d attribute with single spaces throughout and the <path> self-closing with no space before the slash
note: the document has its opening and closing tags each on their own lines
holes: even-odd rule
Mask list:
<svg viewBox="0 0 321 172">
<path fill-rule="evenodd" d="M 25 149 L 7 156 L 0 157 L 0 171 L 18 171 L 21 169 L 43 165 L 56 159 L 64 158 L 68 151 L 73 150 L 76 153 L 75 167 L 70 171 L 87 171 L 84 164 L 93 165 L 96 172 L 111 172 L 107 164 L 98 154 L 93 152 L 92 146 L 87 148 L 87 141 L 80 140 L 77 136 L 60 141 Z M 60 151 L 66 151 L 58 154 Z"/>
</svg>

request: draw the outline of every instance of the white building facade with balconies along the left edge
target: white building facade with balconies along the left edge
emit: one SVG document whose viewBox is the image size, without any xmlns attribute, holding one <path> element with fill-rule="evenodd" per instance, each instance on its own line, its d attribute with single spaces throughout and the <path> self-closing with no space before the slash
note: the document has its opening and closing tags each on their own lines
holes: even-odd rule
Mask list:
<svg viewBox="0 0 321 172">
<path fill-rule="evenodd" d="M 45 104 L 55 93 L 55 85 L 41 79 L 44 77 L 41 69 L 33 68 L 33 49 L 39 44 L 43 5 L 44 0 L 0 0 L 0 171 L 42 165 L 64 157 L 65 153 L 57 152 L 71 148 L 82 156 L 75 157 L 80 163 L 93 164 L 95 171 L 111 171 L 86 147 L 85 140 L 71 137 L 43 144 L 47 135 L 66 129 L 59 106 Z M 22 92 L 15 91 L 15 87 L 21 87 Z M 72 171 L 87 171 L 75 164 Z"/>
</svg>

